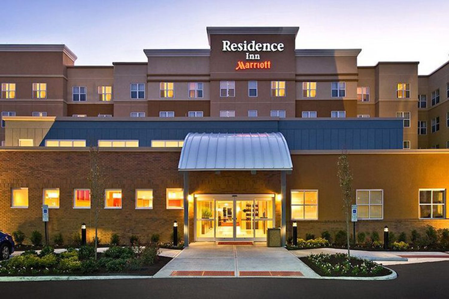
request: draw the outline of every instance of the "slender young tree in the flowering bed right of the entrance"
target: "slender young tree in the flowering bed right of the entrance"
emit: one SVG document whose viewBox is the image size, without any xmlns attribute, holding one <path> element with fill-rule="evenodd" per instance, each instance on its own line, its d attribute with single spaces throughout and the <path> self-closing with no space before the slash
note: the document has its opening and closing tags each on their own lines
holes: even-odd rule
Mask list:
<svg viewBox="0 0 449 299">
<path fill-rule="evenodd" d="M 343 199 L 343 212 L 346 218 L 346 238 L 348 245 L 348 258 L 350 256 L 349 251 L 349 219 L 351 217 L 351 205 L 352 205 L 352 173 L 349 168 L 349 160 L 347 152 L 343 151 L 337 161 L 337 176 L 339 178 L 340 189 Z"/>
</svg>

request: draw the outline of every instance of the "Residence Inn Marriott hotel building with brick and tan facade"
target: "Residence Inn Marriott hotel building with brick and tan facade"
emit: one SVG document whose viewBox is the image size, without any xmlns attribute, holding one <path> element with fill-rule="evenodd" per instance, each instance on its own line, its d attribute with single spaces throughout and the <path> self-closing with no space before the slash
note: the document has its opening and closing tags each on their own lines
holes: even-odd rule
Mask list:
<svg viewBox="0 0 449 299">
<path fill-rule="evenodd" d="M 65 45 L 0 45 L 2 229 L 92 228 L 89 147 L 105 168 L 100 238 L 188 242 L 449 226 L 449 63 L 358 66 L 360 49 L 295 49 L 297 27 L 208 27 L 210 49 L 78 66 Z M 440 148 L 440 149 L 439 149 Z"/>
</svg>

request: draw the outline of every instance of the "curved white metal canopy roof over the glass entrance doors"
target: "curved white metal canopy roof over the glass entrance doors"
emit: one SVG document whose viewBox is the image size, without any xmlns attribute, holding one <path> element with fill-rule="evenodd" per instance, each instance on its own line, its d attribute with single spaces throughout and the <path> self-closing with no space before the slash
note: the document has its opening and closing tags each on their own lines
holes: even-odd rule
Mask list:
<svg viewBox="0 0 449 299">
<path fill-rule="evenodd" d="M 273 133 L 189 133 L 179 170 L 291 170 L 284 136 Z"/>
</svg>

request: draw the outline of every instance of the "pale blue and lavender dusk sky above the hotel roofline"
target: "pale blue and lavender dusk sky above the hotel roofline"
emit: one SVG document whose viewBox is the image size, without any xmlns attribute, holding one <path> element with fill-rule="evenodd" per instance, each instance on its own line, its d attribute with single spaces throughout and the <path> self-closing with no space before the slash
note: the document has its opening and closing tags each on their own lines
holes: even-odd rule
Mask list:
<svg viewBox="0 0 449 299">
<path fill-rule="evenodd" d="M 297 49 L 361 48 L 358 65 L 449 60 L 449 0 L 0 0 L 0 43 L 64 43 L 75 65 L 208 48 L 207 26 L 299 26 Z M 0 66 L 1 67 L 1 66 Z"/>
</svg>

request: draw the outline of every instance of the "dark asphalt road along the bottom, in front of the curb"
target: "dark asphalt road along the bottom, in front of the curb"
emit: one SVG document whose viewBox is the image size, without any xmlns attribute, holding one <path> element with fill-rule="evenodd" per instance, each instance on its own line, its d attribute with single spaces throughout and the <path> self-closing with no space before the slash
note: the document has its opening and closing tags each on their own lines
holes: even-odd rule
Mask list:
<svg viewBox="0 0 449 299">
<path fill-rule="evenodd" d="M 0 283 L 1 298 L 448 298 L 449 261 L 392 266 L 392 281 L 165 278 Z"/>
</svg>

